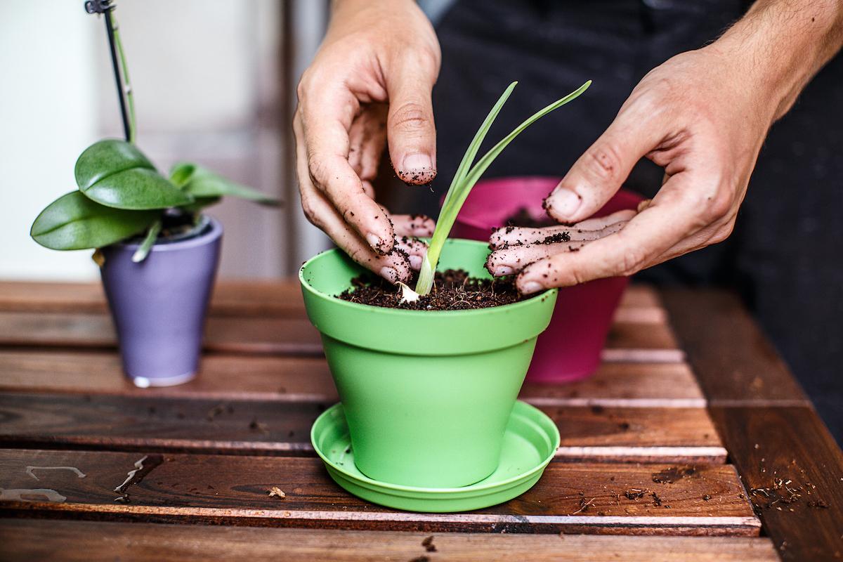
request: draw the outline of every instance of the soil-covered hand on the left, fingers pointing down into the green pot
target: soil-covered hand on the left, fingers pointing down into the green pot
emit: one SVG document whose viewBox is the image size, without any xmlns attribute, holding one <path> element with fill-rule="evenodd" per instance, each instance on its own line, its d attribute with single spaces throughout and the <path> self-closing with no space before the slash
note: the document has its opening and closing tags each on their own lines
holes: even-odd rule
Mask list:
<svg viewBox="0 0 843 562">
<path fill-rule="evenodd" d="M 328 33 L 298 83 L 293 119 L 304 214 L 358 264 L 409 281 L 430 218 L 389 215 L 371 181 L 384 142 L 405 183 L 436 176 L 431 90 L 436 34 L 411 0 L 336 0 Z M 401 238 L 398 238 L 401 237 Z"/>
</svg>

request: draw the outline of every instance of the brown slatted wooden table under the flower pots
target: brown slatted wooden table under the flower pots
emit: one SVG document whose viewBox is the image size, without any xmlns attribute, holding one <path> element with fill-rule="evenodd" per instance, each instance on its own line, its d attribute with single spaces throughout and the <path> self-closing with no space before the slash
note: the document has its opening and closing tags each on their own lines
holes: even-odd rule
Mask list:
<svg viewBox="0 0 843 562">
<path fill-rule="evenodd" d="M 134 388 L 99 285 L 0 283 L 0 559 L 843 556 L 843 454 L 725 293 L 631 288 L 596 375 L 524 386 L 556 460 L 474 513 L 328 478 L 309 427 L 336 391 L 293 282 L 220 283 L 206 348 L 196 381 Z"/>
</svg>

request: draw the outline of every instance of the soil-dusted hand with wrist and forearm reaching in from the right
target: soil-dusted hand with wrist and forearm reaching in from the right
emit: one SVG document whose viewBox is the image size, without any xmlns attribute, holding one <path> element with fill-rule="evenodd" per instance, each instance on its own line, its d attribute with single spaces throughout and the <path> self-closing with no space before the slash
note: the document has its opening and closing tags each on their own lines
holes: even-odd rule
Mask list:
<svg viewBox="0 0 843 562">
<path fill-rule="evenodd" d="M 832 0 L 760 0 L 722 39 L 649 72 L 545 208 L 559 222 L 583 221 L 644 157 L 664 168 L 658 195 L 593 241 L 497 249 L 491 272 L 520 270 L 518 289 L 533 293 L 631 275 L 727 238 L 772 122 L 839 49 L 841 14 Z"/>
</svg>

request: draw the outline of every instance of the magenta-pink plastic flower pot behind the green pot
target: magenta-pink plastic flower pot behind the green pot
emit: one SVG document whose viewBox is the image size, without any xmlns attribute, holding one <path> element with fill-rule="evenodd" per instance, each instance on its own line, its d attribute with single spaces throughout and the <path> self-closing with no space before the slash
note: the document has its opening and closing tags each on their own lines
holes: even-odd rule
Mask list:
<svg viewBox="0 0 843 562">
<path fill-rule="evenodd" d="M 547 216 L 541 201 L 558 183 L 558 178 L 542 177 L 479 181 L 459 211 L 452 235 L 487 241 L 492 228 L 506 226 L 507 219 L 521 209 L 542 220 Z M 639 195 L 620 190 L 593 216 L 635 209 L 639 201 Z M 615 308 L 628 282 L 628 277 L 611 277 L 560 289 L 550 326 L 536 343 L 527 381 L 567 383 L 596 371 Z"/>
</svg>

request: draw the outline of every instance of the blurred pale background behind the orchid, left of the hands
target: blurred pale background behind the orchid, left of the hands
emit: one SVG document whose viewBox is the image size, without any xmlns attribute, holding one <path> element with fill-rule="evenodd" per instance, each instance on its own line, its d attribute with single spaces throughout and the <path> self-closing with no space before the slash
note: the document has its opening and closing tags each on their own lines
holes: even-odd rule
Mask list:
<svg viewBox="0 0 843 562">
<path fill-rule="evenodd" d="M 284 201 L 229 198 L 221 276 L 291 275 L 328 247 L 298 203 L 295 85 L 325 32 L 327 0 L 117 3 L 137 104 L 137 143 L 159 169 L 190 160 Z M 79 153 L 122 137 L 105 24 L 83 2 L 0 3 L 0 277 L 89 280 L 89 250 L 30 238 L 40 210 L 75 189 Z"/>
</svg>

